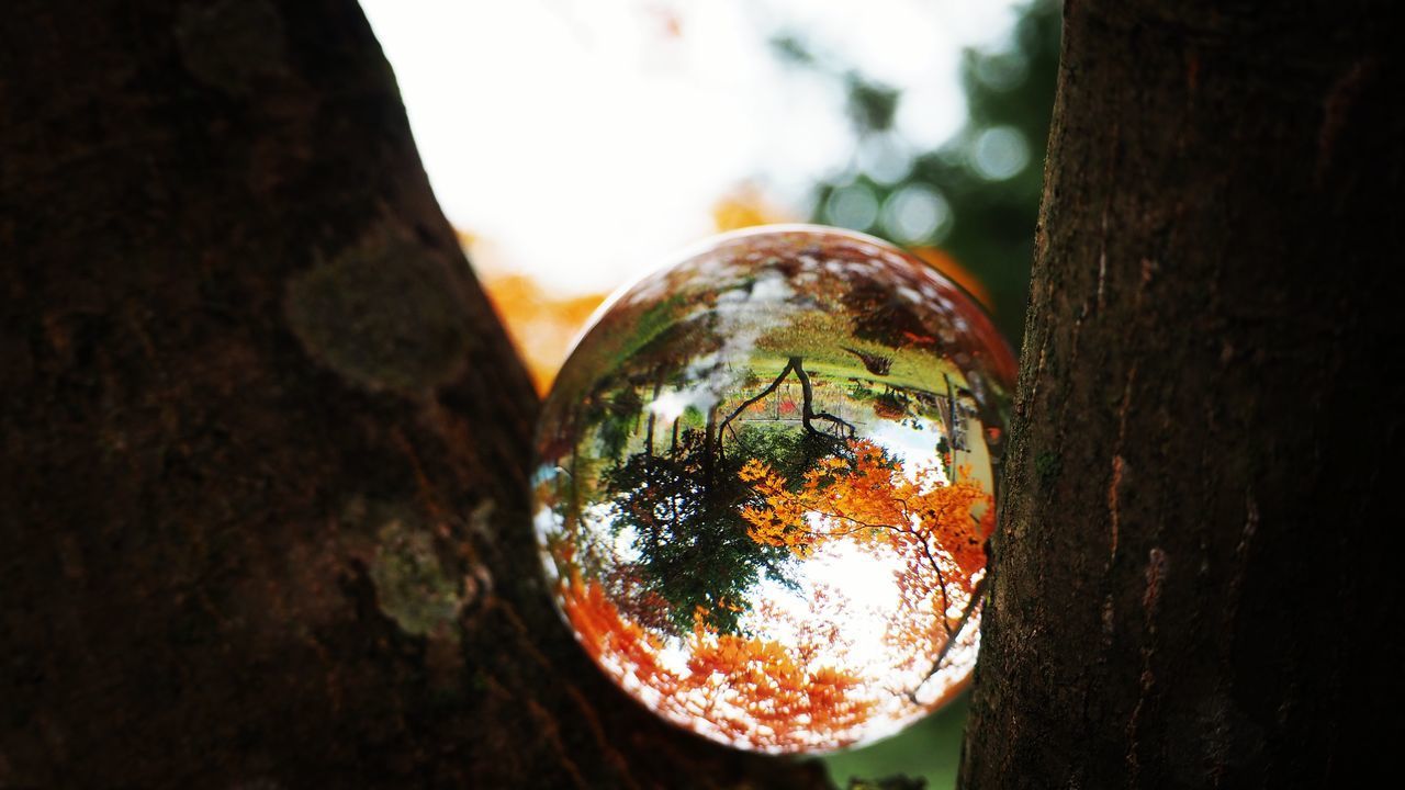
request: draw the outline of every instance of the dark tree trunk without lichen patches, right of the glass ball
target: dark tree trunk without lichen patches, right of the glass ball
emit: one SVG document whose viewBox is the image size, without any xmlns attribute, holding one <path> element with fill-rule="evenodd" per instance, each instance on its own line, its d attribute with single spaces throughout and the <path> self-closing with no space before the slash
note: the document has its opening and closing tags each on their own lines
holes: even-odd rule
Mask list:
<svg viewBox="0 0 1405 790">
<path fill-rule="evenodd" d="M 1390 11 L 1068 3 L 964 787 L 1397 759 Z"/>
</svg>

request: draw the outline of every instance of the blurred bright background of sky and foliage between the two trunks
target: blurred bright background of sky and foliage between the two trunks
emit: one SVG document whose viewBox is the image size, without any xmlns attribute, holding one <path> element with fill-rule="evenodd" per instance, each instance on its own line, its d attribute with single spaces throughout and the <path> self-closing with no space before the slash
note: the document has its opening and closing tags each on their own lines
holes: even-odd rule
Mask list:
<svg viewBox="0 0 1405 790">
<path fill-rule="evenodd" d="M 903 245 L 1017 343 L 1058 14 L 1012 0 L 362 0 L 540 388 L 599 301 L 718 231 Z M 828 758 L 954 784 L 965 706 Z M 936 744 L 936 746 L 933 746 Z"/>
</svg>

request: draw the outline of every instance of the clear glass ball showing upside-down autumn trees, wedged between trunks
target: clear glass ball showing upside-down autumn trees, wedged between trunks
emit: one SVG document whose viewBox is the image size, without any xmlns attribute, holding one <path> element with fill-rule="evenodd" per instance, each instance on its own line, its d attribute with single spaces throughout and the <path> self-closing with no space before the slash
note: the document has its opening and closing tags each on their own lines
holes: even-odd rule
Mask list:
<svg viewBox="0 0 1405 790">
<path fill-rule="evenodd" d="M 975 663 L 1014 358 L 878 239 L 718 236 L 618 291 L 547 398 L 534 524 L 621 689 L 762 752 L 899 731 Z"/>
</svg>

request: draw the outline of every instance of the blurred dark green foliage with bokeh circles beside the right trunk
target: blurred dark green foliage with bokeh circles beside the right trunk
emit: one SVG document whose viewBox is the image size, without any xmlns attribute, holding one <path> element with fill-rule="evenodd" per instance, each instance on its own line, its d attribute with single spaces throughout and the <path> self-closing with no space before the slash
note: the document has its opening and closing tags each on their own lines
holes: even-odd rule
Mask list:
<svg viewBox="0 0 1405 790">
<path fill-rule="evenodd" d="M 965 128 L 941 148 L 916 152 L 892 132 L 901 91 L 823 62 L 795 35 L 773 42 L 780 58 L 832 75 L 847 96 L 856 156 L 818 184 L 812 221 L 913 247 L 972 291 L 1016 347 L 1054 110 L 1059 24 L 1058 4 L 1037 0 L 1021 10 L 1005 46 L 968 51 Z"/>
</svg>

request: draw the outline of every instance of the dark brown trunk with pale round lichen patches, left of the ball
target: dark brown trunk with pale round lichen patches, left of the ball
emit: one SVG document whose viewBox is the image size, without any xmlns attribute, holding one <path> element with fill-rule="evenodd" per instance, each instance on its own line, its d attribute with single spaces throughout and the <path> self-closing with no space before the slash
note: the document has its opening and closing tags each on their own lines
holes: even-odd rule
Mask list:
<svg viewBox="0 0 1405 790">
<path fill-rule="evenodd" d="M 823 784 L 548 609 L 537 401 L 351 0 L 11 3 L 0 152 L 0 786 Z"/>
</svg>

